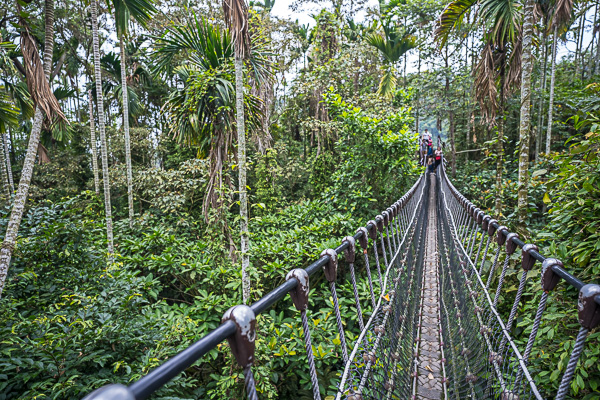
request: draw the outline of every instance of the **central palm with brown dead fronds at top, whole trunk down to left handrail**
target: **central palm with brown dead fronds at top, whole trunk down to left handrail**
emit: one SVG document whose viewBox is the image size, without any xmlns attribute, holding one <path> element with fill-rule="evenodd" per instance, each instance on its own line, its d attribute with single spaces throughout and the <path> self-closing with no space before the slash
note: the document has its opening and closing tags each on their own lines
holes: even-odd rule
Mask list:
<svg viewBox="0 0 600 400">
<path fill-rule="evenodd" d="M 242 299 L 244 304 L 250 298 L 250 257 L 248 247 L 248 194 L 246 192 L 246 126 L 244 124 L 244 76 L 243 59 L 250 51 L 248 32 L 248 6 L 245 0 L 223 0 L 225 24 L 229 28 L 234 46 L 235 66 L 235 119 L 238 139 L 238 176 L 240 195 L 240 236 L 242 256 Z"/>
</svg>

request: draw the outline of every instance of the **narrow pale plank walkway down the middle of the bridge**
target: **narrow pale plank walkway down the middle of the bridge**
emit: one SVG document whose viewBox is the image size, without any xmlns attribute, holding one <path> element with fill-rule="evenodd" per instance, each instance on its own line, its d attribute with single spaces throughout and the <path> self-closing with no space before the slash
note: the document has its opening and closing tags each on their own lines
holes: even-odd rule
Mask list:
<svg viewBox="0 0 600 400">
<path fill-rule="evenodd" d="M 423 283 L 415 344 L 413 399 L 444 399 L 443 348 L 440 333 L 440 283 L 437 253 L 436 176 L 429 175 L 429 208 L 423 266 Z"/>
</svg>

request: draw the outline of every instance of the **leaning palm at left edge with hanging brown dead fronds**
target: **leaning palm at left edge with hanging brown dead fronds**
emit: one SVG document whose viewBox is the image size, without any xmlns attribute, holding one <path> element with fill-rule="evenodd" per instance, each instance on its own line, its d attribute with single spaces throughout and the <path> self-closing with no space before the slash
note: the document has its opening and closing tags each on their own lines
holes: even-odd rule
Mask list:
<svg viewBox="0 0 600 400">
<path fill-rule="evenodd" d="M 40 133 L 42 131 L 42 123 L 44 115 L 51 118 L 52 115 L 57 115 L 59 118 L 65 119 L 60 110 L 60 105 L 54 97 L 50 89 L 49 80 L 52 70 L 52 51 L 54 49 L 54 0 L 45 0 L 44 2 L 44 18 L 45 18 L 45 36 L 44 36 L 44 61 L 43 64 L 33 40 L 29 27 L 21 13 L 21 5 L 16 4 L 17 11 L 21 15 L 19 17 L 19 25 L 21 27 L 21 52 L 23 55 L 23 64 L 25 67 L 27 85 L 31 94 L 35 107 L 33 119 L 33 127 L 29 135 L 29 144 L 27 153 L 23 161 L 21 171 L 21 180 L 17 188 L 17 193 L 14 198 L 13 207 L 8 220 L 6 235 L 0 248 L 0 296 L 4 289 L 6 274 L 12 258 L 13 249 L 17 242 L 17 234 L 19 226 L 23 219 L 25 210 L 25 202 L 29 193 L 29 184 L 33 175 L 33 167 L 40 142 Z"/>
</svg>

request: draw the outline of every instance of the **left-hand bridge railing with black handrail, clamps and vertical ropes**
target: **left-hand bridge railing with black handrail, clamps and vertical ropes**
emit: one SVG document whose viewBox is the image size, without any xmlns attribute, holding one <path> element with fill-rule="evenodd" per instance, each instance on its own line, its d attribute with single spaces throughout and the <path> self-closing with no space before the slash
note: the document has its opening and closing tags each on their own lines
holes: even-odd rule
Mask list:
<svg viewBox="0 0 600 400">
<path fill-rule="evenodd" d="M 309 362 L 311 375 L 311 384 L 314 399 L 321 399 L 319 393 L 319 382 L 315 372 L 312 343 L 310 339 L 310 329 L 307 323 L 306 310 L 308 308 L 309 296 L 309 278 L 320 271 L 325 275 L 329 282 L 331 296 L 334 301 L 334 311 L 336 314 L 337 328 L 340 337 L 340 347 L 343 355 L 343 361 L 348 361 L 348 346 L 345 342 L 344 327 L 340 315 L 340 307 L 336 293 L 335 281 L 337 278 L 338 255 L 343 254 L 346 263 L 349 265 L 352 284 L 354 287 L 354 298 L 358 310 L 358 321 L 360 328 L 363 329 L 363 320 L 361 315 L 361 304 L 358 298 L 357 286 L 354 275 L 354 261 L 356 257 L 355 245 L 359 243 L 364 254 L 366 272 L 369 280 L 370 296 L 373 307 L 376 307 L 376 298 L 382 293 L 375 293 L 374 284 L 371 278 L 369 259 L 373 257 L 377 266 L 377 277 L 379 279 L 379 289 L 385 288 L 382 284 L 381 267 L 388 266 L 388 257 L 393 259 L 394 253 L 399 251 L 398 247 L 402 240 L 402 235 L 406 234 L 409 228 L 408 209 L 414 208 L 416 202 L 413 195 L 417 189 L 424 185 L 424 178 L 421 176 L 413 187 L 398 201 L 389 208 L 377 215 L 374 220 L 367 223 L 365 227 L 359 228 L 354 236 L 346 236 L 341 244 L 335 249 L 328 249 L 321 253 L 321 257 L 310 264 L 305 269 L 291 270 L 286 277 L 286 282 L 270 293 L 263 296 L 260 300 L 250 306 L 237 305 L 229 309 L 223 315 L 223 322 L 216 329 L 212 330 L 191 346 L 171 357 L 168 361 L 152 370 L 150 373 L 140 378 L 129 386 L 121 384 L 110 384 L 103 386 L 85 397 L 85 400 L 144 400 L 150 397 L 154 392 L 168 383 L 170 380 L 181 374 L 195 362 L 205 356 L 210 350 L 217 347 L 218 344 L 227 340 L 234 357 L 238 364 L 243 368 L 245 377 L 245 387 L 248 399 L 257 399 L 257 392 L 252 374 L 252 364 L 254 362 L 254 350 L 256 339 L 256 316 L 267 311 L 275 303 L 282 301 L 288 294 L 290 295 L 295 307 L 300 311 L 304 340 L 306 345 L 306 355 Z M 372 249 L 373 253 L 370 253 Z M 382 256 L 383 260 L 379 257 Z M 387 268 L 389 270 L 389 268 Z M 384 270 L 385 274 L 385 270 Z M 376 285 L 375 285 L 376 286 Z"/>
</svg>

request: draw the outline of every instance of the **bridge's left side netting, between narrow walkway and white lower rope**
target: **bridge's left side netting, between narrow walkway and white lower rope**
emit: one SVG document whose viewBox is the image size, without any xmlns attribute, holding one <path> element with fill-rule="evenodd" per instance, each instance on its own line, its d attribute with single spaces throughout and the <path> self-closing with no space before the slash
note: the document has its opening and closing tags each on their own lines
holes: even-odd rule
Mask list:
<svg viewBox="0 0 600 400">
<path fill-rule="evenodd" d="M 410 397 L 415 300 L 420 290 L 417 274 L 421 271 L 416 265 L 423 260 L 426 187 L 422 177 L 415 191 L 418 195 L 401 200 L 408 216 L 406 229 L 385 271 L 382 295 L 346 363 L 337 399 Z"/>
</svg>

